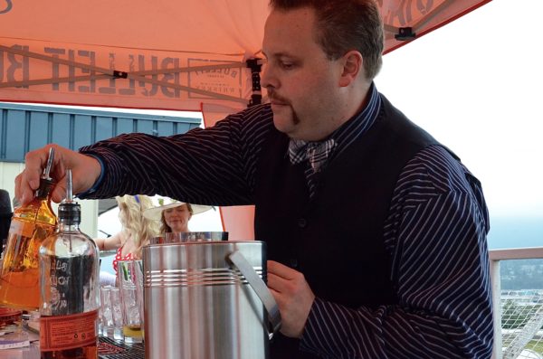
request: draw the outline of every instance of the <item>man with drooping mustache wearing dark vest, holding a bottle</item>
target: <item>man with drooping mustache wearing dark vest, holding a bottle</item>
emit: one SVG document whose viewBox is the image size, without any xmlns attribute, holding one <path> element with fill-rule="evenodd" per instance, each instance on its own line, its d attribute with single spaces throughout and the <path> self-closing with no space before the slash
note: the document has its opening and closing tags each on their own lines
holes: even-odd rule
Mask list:
<svg viewBox="0 0 543 359">
<path fill-rule="evenodd" d="M 485 358 L 488 213 L 475 177 L 379 94 L 373 0 L 271 0 L 270 105 L 174 137 L 57 149 L 83 197 L 255 204 L 282 317 L 272 358 Z M 46 151 L 26 157 L 30 200 Z M 62 197 L 58 185 L 53 199 Z"/>
</svg>

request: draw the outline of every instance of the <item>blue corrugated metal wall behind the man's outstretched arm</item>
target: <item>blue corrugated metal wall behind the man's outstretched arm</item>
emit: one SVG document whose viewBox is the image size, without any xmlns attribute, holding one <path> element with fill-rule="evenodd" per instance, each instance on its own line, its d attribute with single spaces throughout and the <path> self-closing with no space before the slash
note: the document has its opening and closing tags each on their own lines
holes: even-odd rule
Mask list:
<svg viewBox="0 0 543 359">
<path fill-rule="evenodd" d="M 24 162 L 24 154 L 48 143 L 77 150 L 123 133 L 185 133 L 199 118 L 0 103 L 0 161 Z"/>
</svg>

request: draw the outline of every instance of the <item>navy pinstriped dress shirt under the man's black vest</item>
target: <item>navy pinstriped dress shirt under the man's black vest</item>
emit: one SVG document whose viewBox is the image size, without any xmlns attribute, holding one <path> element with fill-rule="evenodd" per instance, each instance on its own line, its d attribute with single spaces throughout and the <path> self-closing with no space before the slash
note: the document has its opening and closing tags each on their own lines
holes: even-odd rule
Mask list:
<svg viewBox="0 0 543 359">
<path fill-rule="evenodd" d="M 380 96 L 372 86 L 366 109 L 332 134 L 338 146 L 329 161 L 371 127 Z M 272 128 L 271 109 L 262 105 L 184 135 L 129 134 L 83 147 L 100 158 L 103 176 L 81 197 L 252 204 Z M 316 298 L 300 348 L 323 358 L 490 358 L 488 230 L 479 182 L 442 146 L 424 148 L 399 176 L 385 224 L 398 304 L 350 308 Z"/>
</svg>

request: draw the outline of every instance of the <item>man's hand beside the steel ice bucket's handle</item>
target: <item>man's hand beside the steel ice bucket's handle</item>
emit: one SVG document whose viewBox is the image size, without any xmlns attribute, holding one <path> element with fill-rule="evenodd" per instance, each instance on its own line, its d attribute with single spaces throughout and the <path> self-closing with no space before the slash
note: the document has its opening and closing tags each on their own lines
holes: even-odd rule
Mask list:
<svg viewBox="0 0 543 359">
<path fill-rule="evenodd" d="M 281 333 L 300 338 L 315 299 L 303 274 L 268 260 L 268 288 L 281 312 Z"/>
</svg>

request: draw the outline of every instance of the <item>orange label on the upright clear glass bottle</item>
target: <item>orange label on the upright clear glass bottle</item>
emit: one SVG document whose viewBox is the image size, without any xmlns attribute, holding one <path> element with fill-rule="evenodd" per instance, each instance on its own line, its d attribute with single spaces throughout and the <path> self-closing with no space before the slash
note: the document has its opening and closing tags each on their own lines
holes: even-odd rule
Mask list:
<svg viewBox="0 0 543 359">
<path fill-rule="evenodd" d="M 40 317 L 40 350 L 51 352 L 96 344 L 98 310 Z"/>
</svg>

